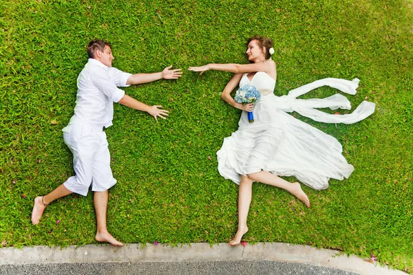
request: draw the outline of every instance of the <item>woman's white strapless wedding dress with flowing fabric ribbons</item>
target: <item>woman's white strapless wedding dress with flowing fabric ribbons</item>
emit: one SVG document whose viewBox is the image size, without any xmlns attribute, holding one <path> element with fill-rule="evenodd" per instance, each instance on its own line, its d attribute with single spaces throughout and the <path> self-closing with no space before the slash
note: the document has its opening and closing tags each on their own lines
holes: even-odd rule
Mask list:
<svg viewBox="0 0 413 275">
<path fill-rule="evenodd" d="M 254 106 L 254 121 L 248 122 L 243 111 L 239 128 L 217 152 L 218 170 L 222 177 L 240 184 L 241 175 L 270 171 L 279 176 L 294 176 L 303 184 L 321 190 L 328 180 L 349 177 L 354 167 L 341 155 L 341 144 L 326 133 L 286 112 L 297 111 L 319 122 L 351 124 L 374 112 L 374 103 L 363 101 L 347 115 L 332 115 L 314 108 L 350 109 L 345 96 L 335 94 L 323 99 L 300 100 L 297 96 L 328 85 L 347 94 L 355 94 L 359 80 L 325 78 L 294 89 L 287 96 L 273 94 L 275 80 L 257 72 L 250 81 L 242 76 L 240 87 L 253 85 L 260 90 L 261 100 Z"/>
</svg>

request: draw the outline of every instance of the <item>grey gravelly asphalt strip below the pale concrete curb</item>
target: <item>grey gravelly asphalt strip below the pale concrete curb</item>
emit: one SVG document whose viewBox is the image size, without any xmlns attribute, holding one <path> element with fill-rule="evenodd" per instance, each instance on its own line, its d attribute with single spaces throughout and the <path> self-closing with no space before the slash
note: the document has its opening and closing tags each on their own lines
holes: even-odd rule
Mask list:
<svg viewBox="0 0 413 275">
<path fill-rule="evenodd" d="M 0 266 L 2 275 L 17 274 L 299 274 L 299 275 L 357 275 L 304 263 L 275 261 L 214 261 L 214 262 L 162 262 L 162 263 L 50 263 Z"/>
</svg>

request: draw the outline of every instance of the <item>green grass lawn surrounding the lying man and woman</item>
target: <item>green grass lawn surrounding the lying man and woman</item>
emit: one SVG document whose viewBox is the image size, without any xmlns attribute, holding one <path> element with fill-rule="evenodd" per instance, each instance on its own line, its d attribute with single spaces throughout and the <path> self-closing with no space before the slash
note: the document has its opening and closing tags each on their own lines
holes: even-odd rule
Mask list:
<svg viewBox="0 0 413 275">
<path fill-rule="evenodd" d="M 357 77 L 359 92 L 348 96 L 353 109 L 367 98 L 377 110 L 352 125 L 294 114 L 336 137 L 354 173 L 331 180 L 328 190 L 304 188 L 308 210 L 284 190 L 255 184 L 245 240 L 374 254 L 413 272 L 412 10 L 411 0 L 1 1 L 1 245 L 95 243 L 90 193 L 60 199 L 40 225 L 30 223 L 34 197 L 73 175 L 61 129 L 73 113 L 88 41 L 111 41 L 114 66 L 125 72 L 159 72 L 246 63 L 246 39 L 261 34 L 275 41 L 275 94 L 320 78 Z M 240 118 L 220 100 L 230 78 L 185 70 L 176 81 L 125 89 L 170 115 L 156 123 L 116 104 L 107 130 L 118 179 L 108 228 L 120 241 L 218 243 L 233 236 L 237 186 L 220 177 L 215 157 Z M 322 88 L 304 98 L 332 94 Z"/>
</svg>

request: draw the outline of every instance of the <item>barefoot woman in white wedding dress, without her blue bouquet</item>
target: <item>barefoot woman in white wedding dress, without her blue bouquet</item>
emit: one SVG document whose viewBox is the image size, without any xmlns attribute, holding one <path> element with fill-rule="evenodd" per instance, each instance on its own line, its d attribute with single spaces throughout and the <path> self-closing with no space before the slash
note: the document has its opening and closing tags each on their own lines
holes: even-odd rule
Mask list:
<svg viewBox="0 0 413 275">
<path fill-rule="evenodd" d="M 313 107 L 349 109 L 350 102 L 341 95 L 312 101 L 295 99 L 300 94 L 323 85 L 336 87 L 349 94 L 355 93 L 354 85 L 357 87 L 357 83 L 335 78 L 326 78 L 321 82 L 296 89 L 297 91 L 292 91 L 294 98 L 288 98 L 290 95 L 280 98 L 275 96 L 273 91 L 277 69 L 275 62 L 271 60 L 274 51 L 272 46 L 271 39 L 253 36 L 248 39 L 246 49 L 250 64 L 208 64 L 202 67 L 189 67 L 189 70 L 200 74 L 209 69 L 235 73 L 222 91 L 221 97 L 233 107 L 244 111 L 238 130 L 231 137 L 224 139 L 222 148 L 217 152 L 220 174 L 240 185 L 238 230 L 230 245 L 239 244 L 242 236 L 248 231 L 246 219 L 251 203 L 253 181 L 287 190 L 310 207 L 310 201 L 301 190 L 300 184 L 291 184 L 278 175 L 295 176 L 312 188 L 325 189 L 330 177 L 343 179 L 354 169 L 341 155 L 341 144 L 334 137 L 293 118 L 285 111 L 298 111 L 317 121 L 344 123 L 359 121 L 374 111 L 374 104 L 372 106 L 371 102 L 366 102 L 368 106 L 363 104 L 363 107 L 369 107 L 368 110 L 357 108 L 350 116 L 341 115 L 341 118 L 338 118 L 326 113 L 320 115 L 322 112 L 319 113 Z M 235 102 L 231 97 L 231 91 L 237 85 L 255 86 L 262 94 L 261 100 L 255 104 L 244 105 Z M 253 111 L 252 124 L 248 122 L 247 111 Z"/>
</svg>

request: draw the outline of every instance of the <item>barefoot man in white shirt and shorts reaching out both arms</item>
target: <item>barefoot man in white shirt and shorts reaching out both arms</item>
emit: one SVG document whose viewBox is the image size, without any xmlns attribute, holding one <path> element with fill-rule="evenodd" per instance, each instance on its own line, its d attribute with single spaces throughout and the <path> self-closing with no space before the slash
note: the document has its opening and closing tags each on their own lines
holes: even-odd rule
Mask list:
<svg viewBox="0 0 413 275">
<path fill-rule="evenodd" d="M 63 129 L 63 139 L 73 153 L 73 166 L 76 175 L 70 177 L 43 197 L 34 199 L 32 223 L 39 220 L 46 206 L 72 192 L 86 196 L 89 186 L 94 191 L 94 208 L 96 211 L 96 241 L 122 246 L 106 228 L 107 190 L 116 184 L 110 168 L 109 148 L 103 127 L 112 125 L 113 102 L 119 102 L 139 111 L 146 111 L 158 121 L 166 119 L 168 111 L 158 109 L 162 106 L 148 106 L 125 94 L 118 87 L 127 87 L 149 83 L 158 79 L 178 79 L 180 69 L 165 68 L 153 74 L 127 74 L 112 67 L 114 56 L 110 44 L 102 40 L 93 40 L 87 46 L 89 61 L 78 76 L 78 92 L 74 115 Z"/>
</svg>

